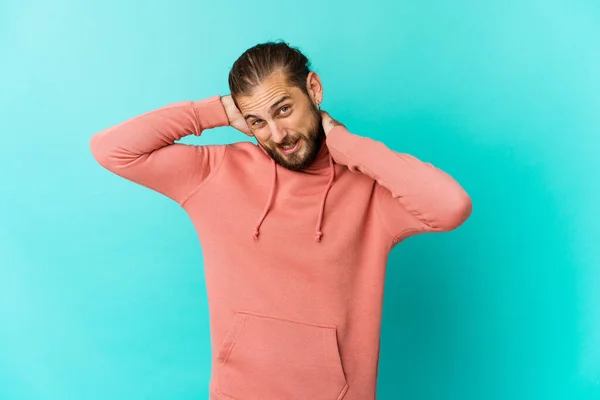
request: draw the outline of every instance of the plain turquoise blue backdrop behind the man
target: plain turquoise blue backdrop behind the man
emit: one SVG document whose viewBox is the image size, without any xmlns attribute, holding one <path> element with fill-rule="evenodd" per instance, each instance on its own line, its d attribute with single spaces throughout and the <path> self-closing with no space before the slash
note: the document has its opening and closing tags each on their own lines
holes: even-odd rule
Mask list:
<svg viewBox="0 0 600 400">
<path fill-rule="evenodd" d="M 207 397 L 192 224 L 89 139 L 228 93 L 274 39 L 313 61 L 334 118 L 473 199 L 458 230 L 392 252 L 378 398 L 600 398 L 598 1 L 0 4 L 0 399 Z"/>
</svg>

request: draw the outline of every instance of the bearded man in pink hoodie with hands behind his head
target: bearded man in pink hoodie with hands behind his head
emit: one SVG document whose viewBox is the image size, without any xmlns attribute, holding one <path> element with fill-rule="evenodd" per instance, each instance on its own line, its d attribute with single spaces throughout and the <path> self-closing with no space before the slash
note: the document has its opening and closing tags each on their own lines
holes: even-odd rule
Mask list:
<svg viewBox="0 0 600 400">
<path fill-rule="evenodd" d="M 400 241 L 449 231 L 471 200 L 448 174 L 350 133 L 285 43 L 248 49 L 231 95 L 94 135 L 97 161 L 183 207 L 202 244 L 212 400 L 375 399 L 385 267 Z M 233 126 L 256 138 L 185 145 Z"/>
</svg>

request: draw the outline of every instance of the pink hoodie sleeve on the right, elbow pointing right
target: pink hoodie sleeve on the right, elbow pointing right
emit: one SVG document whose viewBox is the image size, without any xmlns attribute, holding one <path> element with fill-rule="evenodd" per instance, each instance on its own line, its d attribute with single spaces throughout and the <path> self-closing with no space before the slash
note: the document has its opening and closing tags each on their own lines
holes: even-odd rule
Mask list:
<svg viewBox="0 0 600 400">
<path fill-rule="evenodd" d="M 471 214 L 471 198 L 446 172 L 383 143 L 350 133 L 343 125 L 327 135 L 336 163 L 377 183 L 374 201 L 393 244 L 424 232 L 459 227 Z"/>
</svg>

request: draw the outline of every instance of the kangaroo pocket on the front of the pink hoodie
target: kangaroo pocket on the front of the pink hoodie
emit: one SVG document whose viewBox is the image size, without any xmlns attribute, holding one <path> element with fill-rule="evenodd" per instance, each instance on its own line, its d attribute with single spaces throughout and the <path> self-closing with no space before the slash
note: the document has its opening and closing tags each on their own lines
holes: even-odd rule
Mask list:
<svg viewBox="0 0 600 400">
<path fill-rule="evenodd" d="M 216 363 L 232 400 L 339 400 L 348 389 L 335 326 L 235 313 Z"/>
</svg>

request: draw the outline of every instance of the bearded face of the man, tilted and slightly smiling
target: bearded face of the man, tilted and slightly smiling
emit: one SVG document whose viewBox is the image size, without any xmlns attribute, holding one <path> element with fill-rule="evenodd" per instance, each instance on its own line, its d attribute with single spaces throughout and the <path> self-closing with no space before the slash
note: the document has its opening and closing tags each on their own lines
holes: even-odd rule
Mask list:
<svg viewBox="0 0 600 400">
<path fill-rule="evenodd" d="M 259 145 L 279 165 L 300 171 L 315 160 L 325 138 L 321 114 L 284 74 L 274 73 L 237 103 Z"/>
</svg>

